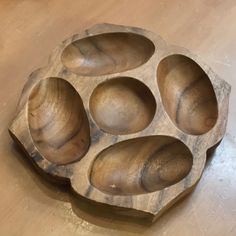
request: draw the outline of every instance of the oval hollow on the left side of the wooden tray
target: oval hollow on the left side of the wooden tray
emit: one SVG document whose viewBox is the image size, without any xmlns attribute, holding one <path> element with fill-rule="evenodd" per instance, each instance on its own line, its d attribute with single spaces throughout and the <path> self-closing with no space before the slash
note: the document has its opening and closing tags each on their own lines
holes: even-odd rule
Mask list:
<svg viewBox="0 0 236 236">
<path fill-rule="evenodd" d="M 67 164 L 87 152 L 88 119 L 79 94 L 66 80 L 47 78 L 34 87 L 28 121 L 35 146 L 49 161 Z"/>
</svg>

